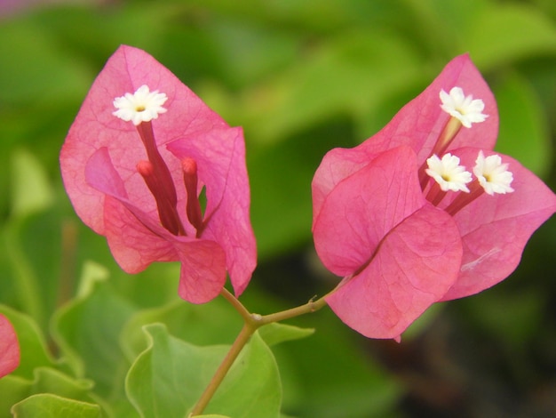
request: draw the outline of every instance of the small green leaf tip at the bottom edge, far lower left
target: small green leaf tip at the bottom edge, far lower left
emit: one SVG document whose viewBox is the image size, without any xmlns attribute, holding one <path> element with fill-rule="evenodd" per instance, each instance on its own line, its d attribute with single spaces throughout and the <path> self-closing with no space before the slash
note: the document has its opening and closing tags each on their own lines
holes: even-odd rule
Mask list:
<svg viewBox="0 0 556 418">
<path fill-rule="evenodd" d="M 52 394 L 33 395 L 12 408 L 15 418 L 98 418 L 100 406 Z"/>
</svg>

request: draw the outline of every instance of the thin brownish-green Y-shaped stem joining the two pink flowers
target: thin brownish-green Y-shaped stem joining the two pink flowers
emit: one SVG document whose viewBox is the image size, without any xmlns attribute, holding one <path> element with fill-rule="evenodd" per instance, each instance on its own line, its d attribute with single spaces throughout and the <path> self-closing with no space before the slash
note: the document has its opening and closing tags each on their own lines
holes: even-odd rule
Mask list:
<svg viewBox="0 0 556 418">
<path fill-rule="evenodd" d="M 261 326 L 266 326 L 267 324 L 271 324 L 274 322 L 283 321 L 284 319 L 290 319 L 298 317 L 299 315 L 304 315 L 306 313 L 313 313 L 314 311 L 321 309 L 326 305 L 326 301 L 324 297 L 321 299 L 314 301 L 308 301 L 305 305 L 298 306 L 297 308 L 286 309 L 280 312 L 275 312 L 274 314 L 260 316 L 258 314 L 251 314 L 250 311 L 245 308 L 241 301 L 238 301 L 235 296 L 228 292 L 226 289 L 222 289 L 220 294 L 226 298 L 226 301 L 230 302 L 230 304 L 237 310 L 243 318 L 243 327 L 240 334 L 237 335 L 235 338 L 232 347 L 227 352 L 226 357 L 218 366 L 216 373 L 212 376 L 209 385 L 201 395 L 201 398 L 197 401 L 189 417 L 194 417 L 195 415 L 203 414 L 204 408 L 209 405 L 210 399 L 214 396 L 220 383 L 226 377 L 227 372 L 230 370 L 230 367 L 234 364 L 235 359 L 239 356 L 242 352 L 243 347 L 245 344 L 249 342 L 250 337 L 252 334 L 255 334 L 255 331 L 258 330 Z"/>
</svg>

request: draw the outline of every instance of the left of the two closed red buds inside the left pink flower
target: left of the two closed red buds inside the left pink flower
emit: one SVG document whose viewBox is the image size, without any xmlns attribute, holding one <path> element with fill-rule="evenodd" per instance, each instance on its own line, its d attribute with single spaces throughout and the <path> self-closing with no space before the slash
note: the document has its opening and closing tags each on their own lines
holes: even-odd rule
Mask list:
<svg viewBox="0 0 556 418">
<path fill-rule="evenodd" d="M 176 205 L 171 205 L 166 195 L 163 193 L 163 187 L 160 179 L 155 175 L 155 167 L 150 161 L 139 161 L 137 171 L 147 183 L 147 188 L 155 197 L 156 207 L 158 209 L 158 217 L 165 229 L 168 229 L 174 235 L 186 235 L 186 231 L 179 220 Z"/>
</svg>

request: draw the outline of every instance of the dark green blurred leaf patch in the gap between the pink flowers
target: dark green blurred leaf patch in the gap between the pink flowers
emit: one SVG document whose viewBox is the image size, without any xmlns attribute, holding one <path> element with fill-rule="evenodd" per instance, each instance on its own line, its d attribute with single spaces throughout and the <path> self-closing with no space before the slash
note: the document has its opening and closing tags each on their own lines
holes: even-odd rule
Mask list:
<svg viewBox="0 0 556 418">
<path fill-rule="evenodd" d="M 338 138 L 351 133 L 346 121 L 334 119 L 259 152 L 248 151 L 251 222 L 259 263 L 310 241 L 314 170 Z"/>
</svg>

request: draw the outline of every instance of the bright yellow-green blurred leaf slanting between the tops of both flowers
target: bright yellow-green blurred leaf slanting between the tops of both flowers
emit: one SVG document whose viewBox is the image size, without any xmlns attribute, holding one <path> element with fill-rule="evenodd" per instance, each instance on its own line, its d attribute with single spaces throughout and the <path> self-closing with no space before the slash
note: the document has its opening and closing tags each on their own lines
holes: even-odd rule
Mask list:
<svg viewBox="0 0 556 418">
<path fill-rule="evenodd" d="M 380 30 L 352 29 L 318 45 L 269 83 L 247 92 L 243 105 L 251 141 L 269 143 L 366 110 L 410 85 L 420 60 L 403 39 Z"/>
</svg>

